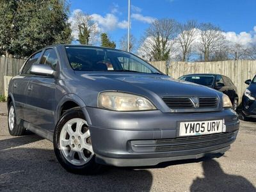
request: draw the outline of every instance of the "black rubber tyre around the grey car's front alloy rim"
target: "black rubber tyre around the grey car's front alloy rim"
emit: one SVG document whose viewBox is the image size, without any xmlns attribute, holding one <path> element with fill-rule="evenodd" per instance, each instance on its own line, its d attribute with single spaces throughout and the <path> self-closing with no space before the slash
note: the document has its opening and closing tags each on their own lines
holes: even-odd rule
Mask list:
<svg viewBox="0 0 256 192">
<path fill-rule="evenodd" d="M 95 155 L 90 159 L 90 161 L 82 166 L 76 166 L 71 164 L 65 159 L 60 149 L 60 133 L 63 126 L 72 118 L 82 118 L 85 120 L 83 111 L 80 108 L 74 108 L 68 110 L 63 116 L 61 116 L 60 121 L 56 125 L 53 137 L 54 152 L 61 166 L 65 168 L 68 172 L 77 174 L 88 174 L 93 175 L 99 171 L 100 165 L 95 163 Z"/>
</svg>

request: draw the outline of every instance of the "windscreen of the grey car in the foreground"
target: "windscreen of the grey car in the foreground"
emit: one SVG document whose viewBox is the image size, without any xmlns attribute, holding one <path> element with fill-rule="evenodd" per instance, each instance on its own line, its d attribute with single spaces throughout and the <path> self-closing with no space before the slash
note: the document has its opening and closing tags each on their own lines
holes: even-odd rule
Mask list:
<svg viewBox="0 0 256 192">
<path fill-rule="evenodd" d="M 66 47 L 68 61 L 74 70 L 141 72 L 161 74 L 156 68 L 128 52 L 101 47 Z"/>
</svg>

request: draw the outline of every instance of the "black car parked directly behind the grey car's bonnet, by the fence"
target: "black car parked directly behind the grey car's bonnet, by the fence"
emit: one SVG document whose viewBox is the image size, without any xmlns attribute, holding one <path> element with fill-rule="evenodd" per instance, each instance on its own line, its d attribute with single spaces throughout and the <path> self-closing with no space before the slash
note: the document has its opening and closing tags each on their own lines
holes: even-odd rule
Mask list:
<svg viewBox="0 0 256 192">
<path fill-rule="evenodd" d="M 189 81 L 191 83 L 202 84 L 210 88 L 214 88 L 219 92 L 228 95 L 232 102 L 232 109 L 237 110 L 238 95 L 237 88 L 234 83 L 226 76 L 220 74 L 189 74 L 179 77 L 180 80 Z"/>
</svg>

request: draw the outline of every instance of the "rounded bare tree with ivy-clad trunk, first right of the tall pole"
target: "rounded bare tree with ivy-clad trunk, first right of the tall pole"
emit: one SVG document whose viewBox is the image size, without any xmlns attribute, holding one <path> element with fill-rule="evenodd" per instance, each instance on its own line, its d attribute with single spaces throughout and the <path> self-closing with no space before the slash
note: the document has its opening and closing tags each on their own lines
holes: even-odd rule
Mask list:
<svg viewBox="0 0 256 192">
<path fill-rule="evenodd" d="M 172 56 L 177 36 L 177 22 L 173 19 L 154 20 L 142 38 L 140 54 L 148 60 L 166 61 Z"/>
</svg>

